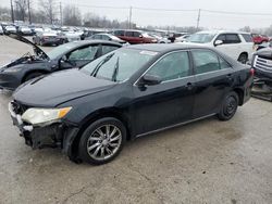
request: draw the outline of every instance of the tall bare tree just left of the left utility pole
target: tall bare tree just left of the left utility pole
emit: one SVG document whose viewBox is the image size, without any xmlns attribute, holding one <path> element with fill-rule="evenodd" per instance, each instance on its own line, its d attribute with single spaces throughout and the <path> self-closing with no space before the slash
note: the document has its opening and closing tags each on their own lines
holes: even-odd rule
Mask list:
<svg viewBox="0 0 272 204">
<path fill-rule="evenodd" d="M 55 0 L 39 0 L 40 12 L 46 16 L 47 22 L 53 24 L 57 16 Z"/>
</svg>

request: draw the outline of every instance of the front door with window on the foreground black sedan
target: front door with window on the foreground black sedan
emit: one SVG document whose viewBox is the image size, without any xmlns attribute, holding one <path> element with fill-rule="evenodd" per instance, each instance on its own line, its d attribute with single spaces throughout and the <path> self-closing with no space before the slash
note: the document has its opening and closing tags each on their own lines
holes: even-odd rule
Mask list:
<svg viewBox="0 0 272 204">
<path fill-rule="evenodd" d="M 147 75 L 159 76 L 154 86 L 134 86 L 136 133 L 169 127 L 191 118 L 195 77 L 188 52 L 172 52 L 159 60 Z"/>
</svg>

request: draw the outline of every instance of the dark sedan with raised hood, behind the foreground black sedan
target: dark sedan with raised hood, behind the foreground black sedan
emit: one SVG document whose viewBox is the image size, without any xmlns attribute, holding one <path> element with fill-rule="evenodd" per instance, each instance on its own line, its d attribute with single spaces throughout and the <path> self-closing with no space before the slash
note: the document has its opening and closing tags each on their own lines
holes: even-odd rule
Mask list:
<svg viewBox="0 0 272 204">
<path fill-rule="evenodd" d="M 33 46 L 35 55 L 22 58 L 0 68 L 0 89 L 14 90 L 21 84 L 44 74 L 83 67 L 92 60 L 122 47 L 120 43 L 91 40 L 59 46 L 48 53 L 20 35 L 10 37 Z"/>
</svg>

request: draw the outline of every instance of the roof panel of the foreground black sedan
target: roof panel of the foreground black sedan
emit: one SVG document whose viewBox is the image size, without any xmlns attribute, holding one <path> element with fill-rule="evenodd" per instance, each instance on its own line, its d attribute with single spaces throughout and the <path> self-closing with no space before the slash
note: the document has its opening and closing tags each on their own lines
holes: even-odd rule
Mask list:
<svg viewBox="0 0 272 204">
<path fill-rule="evenodd" d="M 135 46 L 127 46 L 127 48 L 131 49 L 137 49 L 137 50 L 148 50 L 153 52 L 169 52 L 174 50 L 186 50 L 186 49 L 197 49 L 197 48 L 208 48 L 202 44 L 195 44 L 195 43 L 146 43 L 146 44 L 135 44 Z"/>
</svg>

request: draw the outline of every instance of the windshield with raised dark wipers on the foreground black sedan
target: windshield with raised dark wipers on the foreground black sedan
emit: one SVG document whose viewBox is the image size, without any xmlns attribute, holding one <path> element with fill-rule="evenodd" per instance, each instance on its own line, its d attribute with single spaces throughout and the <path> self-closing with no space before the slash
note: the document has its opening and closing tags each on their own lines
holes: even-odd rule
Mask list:
<svg viewBox="0 0 272 204">
<path fill-rule="evenodd" d="M 92 61 L 81 71 L 97 78 L 124 81 L 157 54 L 151 51 L 119 49 Z"/>
</svg>

